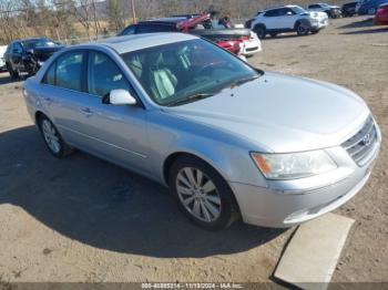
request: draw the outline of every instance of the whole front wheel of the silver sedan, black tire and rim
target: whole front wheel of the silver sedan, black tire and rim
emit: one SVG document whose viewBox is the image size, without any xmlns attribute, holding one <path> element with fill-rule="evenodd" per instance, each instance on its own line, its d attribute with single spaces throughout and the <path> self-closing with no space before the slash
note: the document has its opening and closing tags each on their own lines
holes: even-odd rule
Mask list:
<svg viewBox="0 0 388 290">
<path fill-rule="evenodd" d="M 231 187 L 207 163 L 181 157 L 172 165 L 169 179 L 181 210 L 197 226 L 222 230 L 239 217 Z"/>
</svg>

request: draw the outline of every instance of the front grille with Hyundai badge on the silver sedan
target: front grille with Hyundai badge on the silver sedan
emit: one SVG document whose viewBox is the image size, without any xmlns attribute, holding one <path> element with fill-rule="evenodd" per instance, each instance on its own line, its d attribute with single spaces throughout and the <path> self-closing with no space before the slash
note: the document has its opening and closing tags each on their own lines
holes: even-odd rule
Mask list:
<svg viewBox="0 0 388 290">
<path fill-rule="evenodd" d="M 343 144 L 351 158 L 359 165 L 365 165 L 371 157 L 377 141 L 377 131 L 371 116 L 368 117 L 363 128 Z"/>
</svg>

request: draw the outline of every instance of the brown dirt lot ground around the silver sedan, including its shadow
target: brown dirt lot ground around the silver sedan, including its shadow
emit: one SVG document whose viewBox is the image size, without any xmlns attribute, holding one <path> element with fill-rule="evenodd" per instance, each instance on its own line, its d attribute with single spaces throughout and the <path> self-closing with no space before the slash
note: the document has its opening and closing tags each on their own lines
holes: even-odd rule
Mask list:
<svg viewBox="0 0 388 290">
<path fill-rule="evenodd" d="M 338 213 L 356 219 L 334 281 L 388 281 L 388 28 L 333 21 L 317 35 L 263 41 L 264 70 L 359 93 L 384 134 L 370 182 Z M 78 153 L 58 160 L 0 74 L 0 282 L 267 281 L 293 229 L 190 224 L 165 188 Z"/>
</svg>

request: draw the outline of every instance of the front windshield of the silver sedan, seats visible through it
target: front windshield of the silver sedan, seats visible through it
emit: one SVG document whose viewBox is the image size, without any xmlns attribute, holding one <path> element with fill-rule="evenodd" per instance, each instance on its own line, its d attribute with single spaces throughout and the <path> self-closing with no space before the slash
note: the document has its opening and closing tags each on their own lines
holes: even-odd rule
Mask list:
<svg viewBox="0 0 388 290">
<path fill-rule="evenodd" d="M 201 39 L 127 52 L 122 58 L 151 99 L 165 106 L 194 102 L 261 75 Z"/>
</svg>

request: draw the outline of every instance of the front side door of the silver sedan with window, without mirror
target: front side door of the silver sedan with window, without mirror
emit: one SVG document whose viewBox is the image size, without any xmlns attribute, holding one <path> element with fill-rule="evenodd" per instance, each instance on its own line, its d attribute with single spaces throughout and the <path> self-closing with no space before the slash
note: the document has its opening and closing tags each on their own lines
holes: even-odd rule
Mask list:
<svg viewBox="0 0 388 290">
<path fill-rule="evenodd" d="M 146 110 L 139 99 L 133 106 L 102 103 L 102 97 L 112 90 L 123 89 L 135 96 L 130 82 L 110 56 L 98 51 L 89 52 L 86 79 L 88 103 L 81 110 L 89 147 L 122 166 L 146 172 Z"/>
</svg>

